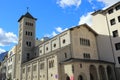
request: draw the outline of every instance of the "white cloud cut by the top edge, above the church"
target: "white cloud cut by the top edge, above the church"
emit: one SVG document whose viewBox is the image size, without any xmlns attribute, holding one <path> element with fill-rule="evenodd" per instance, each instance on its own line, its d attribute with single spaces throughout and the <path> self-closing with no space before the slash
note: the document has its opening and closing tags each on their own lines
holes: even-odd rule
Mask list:
<svg viewBox="0 0 120 80">
<path fill-rule="evenodd" d="M 57 4 L 62 8 L 70 7 L 70 6 L 79 7 L 81 4 L 81 0 L 58 0 Z"/>
</svg>

